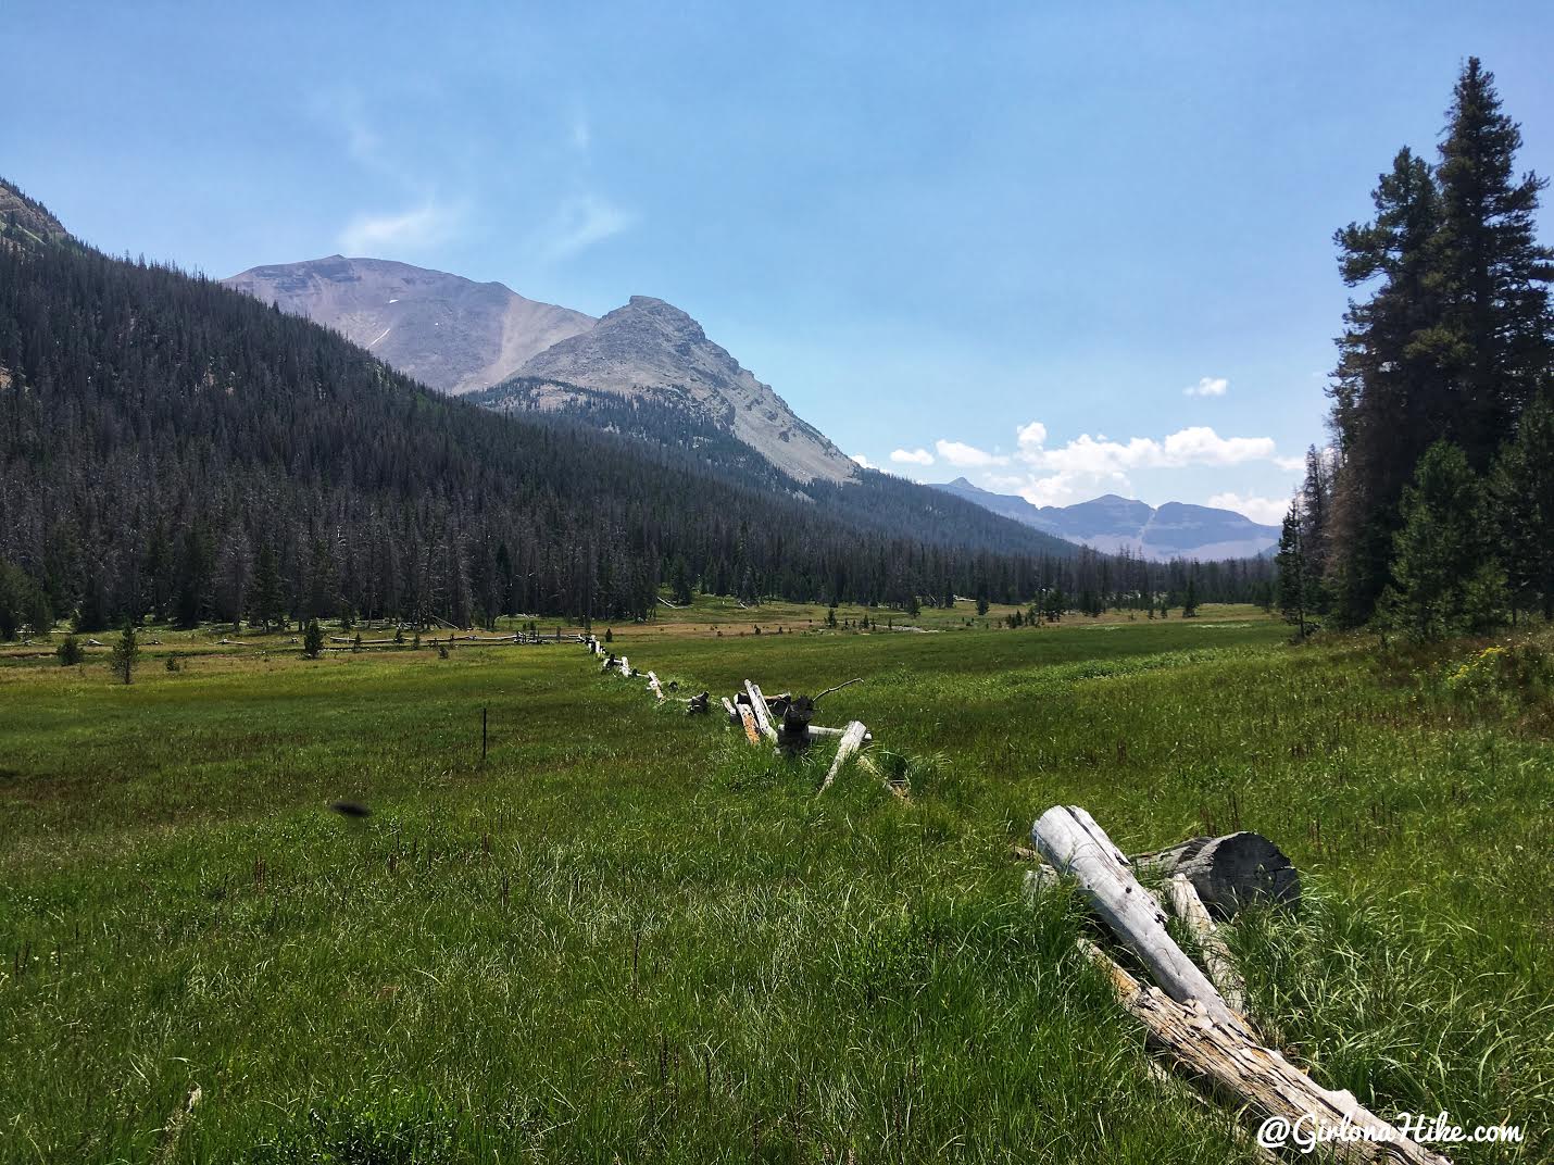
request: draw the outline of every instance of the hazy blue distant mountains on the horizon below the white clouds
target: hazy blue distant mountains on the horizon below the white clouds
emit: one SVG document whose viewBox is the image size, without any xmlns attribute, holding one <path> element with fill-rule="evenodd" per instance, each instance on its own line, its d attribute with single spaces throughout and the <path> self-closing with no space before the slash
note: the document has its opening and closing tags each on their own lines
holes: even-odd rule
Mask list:
<svg viewBox="0 0 1554 1165">
<path fill-rule="evenodd" d="M 1110 553 L 1127 550 L 1153 559 L 1253 558 L 1279 542 L 1279 528 L 1234 509 L 1167 502 L 1155 506 L 1116 494 L 1071 506 L 1035 506 L 1023 497 L 993 494 L 957 477 L 936 486 L 1002 517 Z"/>
</svg>

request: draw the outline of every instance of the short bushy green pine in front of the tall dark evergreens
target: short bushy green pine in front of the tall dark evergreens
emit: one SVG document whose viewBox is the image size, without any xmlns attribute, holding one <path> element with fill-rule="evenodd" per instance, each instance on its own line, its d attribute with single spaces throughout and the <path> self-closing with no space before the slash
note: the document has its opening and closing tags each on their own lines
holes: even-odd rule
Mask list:
<svg viewBox="0 0 1554 1165">
<path fill-rule="evenodd" d="M 1385 624 L 1416 642 L 1493 629 L 1506 575 L 1493 556 L 1483 483 L 1459 447 L 1437 441 L 1425 450 L 1402 516 L 1380 603 Z"/>
</svg>

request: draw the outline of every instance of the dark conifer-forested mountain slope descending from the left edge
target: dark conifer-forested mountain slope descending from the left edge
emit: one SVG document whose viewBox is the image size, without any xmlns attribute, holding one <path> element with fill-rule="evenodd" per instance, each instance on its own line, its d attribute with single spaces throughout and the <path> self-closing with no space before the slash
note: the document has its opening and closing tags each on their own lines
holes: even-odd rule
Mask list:
<svg viewBox="0 0 1554 1165">
<path fill-rule="evenodd" d="M 662 584 L 1021 601 L 1096 570 L 883 474 L 799 483 L 688 393 L 499 412 L 216 281 L 0 230 L 0 601 L 82 631 L 642 618 Z"/>
</svg>

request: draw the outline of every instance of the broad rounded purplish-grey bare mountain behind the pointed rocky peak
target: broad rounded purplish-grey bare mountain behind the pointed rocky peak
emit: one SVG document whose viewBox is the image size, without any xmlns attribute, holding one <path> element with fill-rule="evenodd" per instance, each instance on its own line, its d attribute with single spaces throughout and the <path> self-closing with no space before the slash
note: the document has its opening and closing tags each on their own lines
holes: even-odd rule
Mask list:
<svg viewBox="0 0 1554 1165">
<path fill-rule="evenodd" d="M 500 283 L 387 259 L 250 267 L 228 287 L 340 332 L 406 376 L 444 393 L 486 388 L 594 317 L 525 300 Z"/>
</svg>

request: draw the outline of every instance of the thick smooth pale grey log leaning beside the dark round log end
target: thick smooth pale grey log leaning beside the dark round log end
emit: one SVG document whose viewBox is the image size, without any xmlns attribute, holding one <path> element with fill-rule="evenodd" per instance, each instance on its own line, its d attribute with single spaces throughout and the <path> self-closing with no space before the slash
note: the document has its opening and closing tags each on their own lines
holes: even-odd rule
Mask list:
<svg viewBox="0 0 1554 1165">
<path fill-rule="evenodd" d="M 1215 1022 L 1235 1022 L 1214 983 L 1166 932 L 1166 915 L 1094 817 L 1077 805 L 1054 805 L 1037 819 L 1030 839 L 1060 873 L 1078 878 L 1096 913 L 1144 962 L 1166 994 L 1178 1003 L 1198 1000 Z"/>
</svg>

